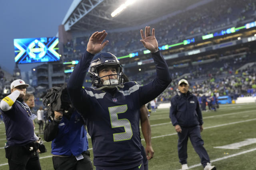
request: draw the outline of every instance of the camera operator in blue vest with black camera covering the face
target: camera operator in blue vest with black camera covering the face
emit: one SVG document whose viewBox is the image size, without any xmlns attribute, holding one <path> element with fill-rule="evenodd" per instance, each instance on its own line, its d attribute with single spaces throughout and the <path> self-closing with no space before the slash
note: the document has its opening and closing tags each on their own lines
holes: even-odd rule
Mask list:
<svg viewBox="0 0 256 170">
<path fill-rule="evenodd" d="M 66 89 L 50 95 L 53 98 L 46 96 L 43 101 L 48 107 L 49 122 L 44 128 L 44 140 L 52 141 L 54 169 L 92 170 L 85 123 L 71 106 Z"/>
</svg>

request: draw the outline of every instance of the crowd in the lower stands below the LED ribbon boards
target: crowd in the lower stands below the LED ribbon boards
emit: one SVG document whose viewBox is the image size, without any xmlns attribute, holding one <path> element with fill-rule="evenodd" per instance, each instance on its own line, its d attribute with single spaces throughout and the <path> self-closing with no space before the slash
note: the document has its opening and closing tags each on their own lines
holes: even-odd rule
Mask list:
<svg viewBox="0 0 256 170">
<path fill-rule="evenodd" d="M 254 65 L 248 66 L 243 70 L 238 70 L 246 63 L 252 63 L 254 61 L 255 53 L 246 57 L 235 57 L 232 59 L 225 59 L 214 61 L 206 64 L 198 64 L 189 67 L 173 68 L 169 72 L 173 80 L 179 80 L 185 78 L 190 84 L 190 91 L 197 96 L 205 94 L 206 96 L 232 96 L 232 99 L 236 99 L 239 96 L 252 96 L 256 93 L 256 68 Z M 188 73 L 188 74 L 186 74 Z M 143 85 L 150 82 L 155 72 L 142 72 L 135 75 L 128 75 L 130 80 L 135 80 L 139 84 Z M 182 76 L 186 74 L 186 76 Z M 66 82 L 68 82 L 70 74 L 66 76 Z M 10 84 L 5 78 L 1 78 L 0 88 L 4 89 L 4 84 Z M 90 77 L 87 75 L 85 78 L 84 86 L 90 86 Z M 170 86 L 158 96 L 158 102 L 169 102 L 170 98 L 176 94 L 177 84 L 173 81 Z M 35 94 L 35 109 L 42 106 L 40 96 L 45 90 L 36 90 Z M 2 91 L 1 91 L 2 92 Z"/>
</svg>

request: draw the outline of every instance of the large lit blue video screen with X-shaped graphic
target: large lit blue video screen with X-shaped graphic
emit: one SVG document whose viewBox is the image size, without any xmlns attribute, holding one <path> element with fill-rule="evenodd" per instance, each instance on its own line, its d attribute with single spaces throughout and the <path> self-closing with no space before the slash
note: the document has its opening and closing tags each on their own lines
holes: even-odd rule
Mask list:
<svg viewBox="0 0 256 170">
<path fill-rule="evenodd" d="M 41 63 L 59 61 L 57 37 L 14 39 L 15 63 Z"/>
</svg>

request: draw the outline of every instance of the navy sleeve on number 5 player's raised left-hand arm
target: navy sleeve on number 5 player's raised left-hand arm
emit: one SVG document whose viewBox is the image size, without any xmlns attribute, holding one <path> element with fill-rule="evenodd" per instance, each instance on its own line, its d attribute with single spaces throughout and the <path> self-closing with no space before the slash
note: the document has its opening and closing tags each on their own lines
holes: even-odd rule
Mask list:
<svg viewBox="0 0 256 170">
<path fill-rule="evenodd" d="M 86 51 L 82 55 L 79 63 L 74 68 L 68 80 L 68 85 L 67 85 L 68 95 L 70 96 L 70 100 L 73 106 L 80 113 L 84 113 L 83 111 L 86 110 L 86 107 L 88 106 L 88 103 L 84 103 L 88 95 L 86 94 L 82 86 L 83 86 L 84 78 L 86 76 L 86 72 L 88 71 L 88 67 L 90 66 L 90 62 L 92 61 L 93 57 L 94 57 L 93 54 Z"/>
</svg>

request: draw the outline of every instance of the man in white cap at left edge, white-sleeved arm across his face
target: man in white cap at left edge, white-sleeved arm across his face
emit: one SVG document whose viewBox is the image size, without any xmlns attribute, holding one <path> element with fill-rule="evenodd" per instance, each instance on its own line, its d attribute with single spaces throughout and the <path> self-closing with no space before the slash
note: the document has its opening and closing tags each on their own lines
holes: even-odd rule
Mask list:
<svg viewBox="0 0 256 170">
<path fill-rule="evenodd" d="M 24 103 L 26 88 L 29 85 L 23 80 L 11 83 L 11 94 L 0 102 L 0 111 L 6 128 L 6 158 L 9 170 L 41 170 L 39 160 L 34 156 L 39 148 L 35 142 L 33 120 L 36 118 L 27 104 Z"/>
</svg>

